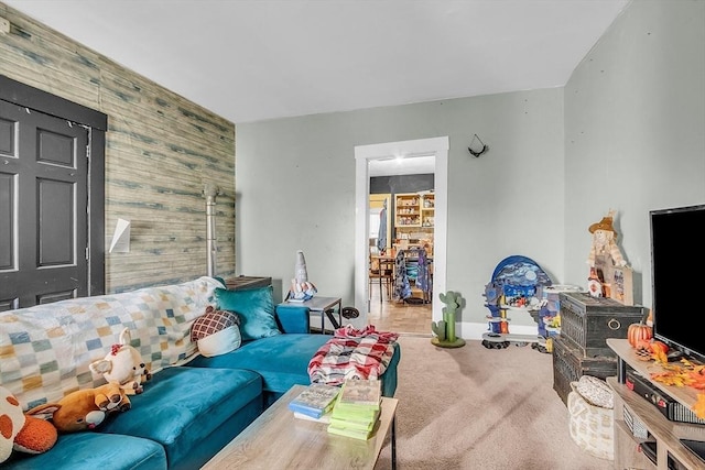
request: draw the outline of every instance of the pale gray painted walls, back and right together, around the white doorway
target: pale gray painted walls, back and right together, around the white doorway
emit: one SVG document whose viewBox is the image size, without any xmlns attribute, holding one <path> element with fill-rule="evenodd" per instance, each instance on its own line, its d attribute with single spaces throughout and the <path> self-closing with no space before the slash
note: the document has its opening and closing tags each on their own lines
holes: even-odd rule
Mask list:
<svg viewBox="0 0 705 470">
<path fill-rule="evenodd" d="M 481 293 L 507 255 L 585 287 L 587 228 L 609 208 L 650 306 L 648 211 L 705 203 L 703 84 L 705 1 L 640 0 L 564 88 L 238 124 L 238 270 L 285 285 L 303 249 L 318 292 L 351 305 L 355 145 L 448 135 L 447 288 L 466 300 L 464 338 L 486 329 Z M 479 159 L 474 133 L 490 147 Z"/>
</svg>

